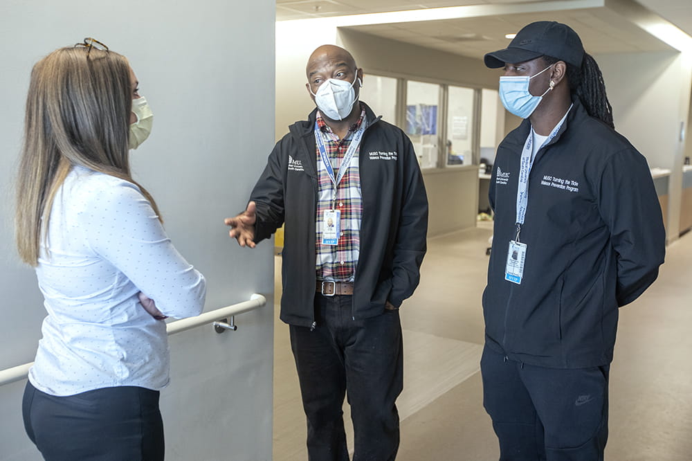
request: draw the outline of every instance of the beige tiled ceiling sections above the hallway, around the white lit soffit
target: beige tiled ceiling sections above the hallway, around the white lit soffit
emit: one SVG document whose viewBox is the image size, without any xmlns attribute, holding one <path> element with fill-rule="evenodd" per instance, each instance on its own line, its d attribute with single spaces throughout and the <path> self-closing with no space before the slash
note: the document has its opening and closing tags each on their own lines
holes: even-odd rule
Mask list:
<svg viewBox="0 0 692 461">
<path fill-rule="evenodd" d="M 277 20 L 528 1 L 277 0 Z M 692 35 L 692 0 L 637 1 Z M 540 2 L 534 0 L 531 3 Z M 482 57 L 488 51 L 507 46 L 505 34 L 516 32 L 529 22 L 541 20 L 570 24 L 583 39 L 586 50 L 592 54 L 670 49 L 608 8 L 351 26 L 349 29 L 448 53 Z"/>
</svg>

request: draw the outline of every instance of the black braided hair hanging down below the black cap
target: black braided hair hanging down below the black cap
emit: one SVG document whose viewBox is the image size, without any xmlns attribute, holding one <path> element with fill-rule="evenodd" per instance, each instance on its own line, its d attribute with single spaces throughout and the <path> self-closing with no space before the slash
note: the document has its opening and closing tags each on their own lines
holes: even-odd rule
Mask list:
<svg viewBox="0 0 692 461">
<path fill-rule="evenodd" d="M 556 57 L 543 56 L 546 65 L 560 61 Z M 611 128 L 615 127 L 612 120 L 612 106 L 605 94 L 605 82 L 599 65 L 592 55 L 584 53 L 581 68 L 567 64 L 567 81 L 570 83 L 572 95 L 579 96 L 581 104 L 587 113 L 601 120 Z"/>
</svg>

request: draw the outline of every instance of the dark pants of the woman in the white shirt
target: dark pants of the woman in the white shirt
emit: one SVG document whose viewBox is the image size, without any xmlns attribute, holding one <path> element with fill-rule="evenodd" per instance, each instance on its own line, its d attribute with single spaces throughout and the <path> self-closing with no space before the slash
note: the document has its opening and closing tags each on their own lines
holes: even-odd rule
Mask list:
<svg viewBox="0 0 692 461">
<path fill-rule="evenodd" d="M 26 383 L 24 428 L 46 461 L 163 461 L 158 391 L 133 386 L 56 397 Z"/>
</svg>

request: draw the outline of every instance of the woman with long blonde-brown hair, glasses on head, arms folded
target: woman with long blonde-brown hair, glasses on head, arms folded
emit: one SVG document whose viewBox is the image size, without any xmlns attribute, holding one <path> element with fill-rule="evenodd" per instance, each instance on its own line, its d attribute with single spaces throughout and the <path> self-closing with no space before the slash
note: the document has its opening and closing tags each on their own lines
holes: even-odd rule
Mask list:
<svg viewBox="0 0 692 461">
<path fill-rule="evenodd" d="M 163 460 L 166 316 L 201 312 L 206 283 L 167 237 L 129 149 L 152 111 L 127 59 L 94 39 L 31 73 L 17 247 L 48 311 L 22 409 L 46 460 Z"/>
</svg>

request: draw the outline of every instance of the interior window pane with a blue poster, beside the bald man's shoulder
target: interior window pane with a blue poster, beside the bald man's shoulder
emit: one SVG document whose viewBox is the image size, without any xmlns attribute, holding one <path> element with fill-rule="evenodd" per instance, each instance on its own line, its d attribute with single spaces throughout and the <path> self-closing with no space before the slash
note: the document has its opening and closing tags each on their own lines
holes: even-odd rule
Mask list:
<svg viewBox="0 0 692 461">
<path fill-rule="evenodd" d="M 440 85 L 406 82 L 406 134 L 411 138 L 421 168 L 437 168 L 439 156 Z"/>
</svg>

